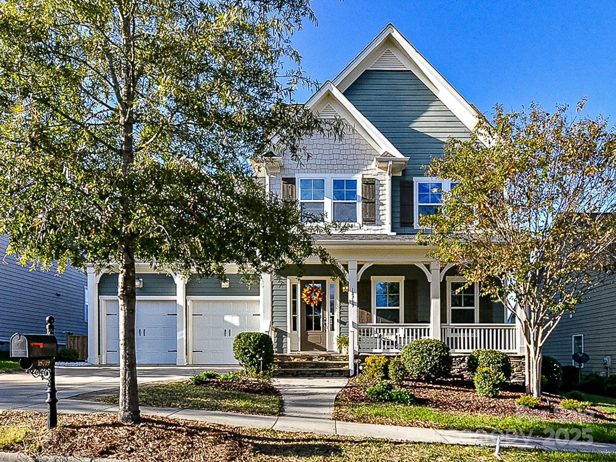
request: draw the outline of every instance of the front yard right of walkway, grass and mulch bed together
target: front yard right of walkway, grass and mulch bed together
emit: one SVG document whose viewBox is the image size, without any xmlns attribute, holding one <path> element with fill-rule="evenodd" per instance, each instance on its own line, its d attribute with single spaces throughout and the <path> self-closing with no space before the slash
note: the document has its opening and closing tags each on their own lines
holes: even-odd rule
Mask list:
<svg viewBox="0 0 616 462">
<path fill-rule="evenodd" d="M 336 397 L 334 418 L 342 421 L 415 426 L 437 429 L 515 432 L 540 437 L 616 443 L 616 421 L 602 410 L 590 413 L 559 410 L 551 398 L 548 408 L 518 408 L 519 394 L 501 392 L 498 398 L 477 397 L 471 387 L 455 381 L 438 385 L 405 382 L 404 387 L 418 397 L 415 405 L 376 402 L 350 379 Z M 577 437 L 577 438 L 576 438 Z"/>
</svg>

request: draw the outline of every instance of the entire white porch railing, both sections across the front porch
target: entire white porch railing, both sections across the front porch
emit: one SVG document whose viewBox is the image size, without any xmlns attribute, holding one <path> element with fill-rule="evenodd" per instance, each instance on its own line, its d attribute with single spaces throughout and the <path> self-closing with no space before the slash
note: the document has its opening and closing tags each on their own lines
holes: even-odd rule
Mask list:
<svg viewBox="0 0 616 462">
<path fill-rule="evenodd" d="M 432 338 L 429 324 L 360 324 L 357 333 L 360 353 L 399 353 L 415 339 Z M 444 324 L 440 335 L 452 353 L 477 348 L 518 352 L 515 324 Z"/>
</svg>

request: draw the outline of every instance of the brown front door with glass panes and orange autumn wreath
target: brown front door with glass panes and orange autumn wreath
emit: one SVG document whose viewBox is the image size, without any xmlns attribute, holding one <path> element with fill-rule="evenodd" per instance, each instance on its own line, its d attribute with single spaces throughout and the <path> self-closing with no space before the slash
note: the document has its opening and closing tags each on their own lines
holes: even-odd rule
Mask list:
<svg viewBox="0 0 616 462">
<path fill-rule="evenodd" d="M 323 298 L 314 306 L 304 302 L 300 304 L 301 316 L 301 349 L 302 351 L 326 351 L 327 349 L 327 312 L 323 309 L 328 300 L 327 281 L 306 280 L 301 282 L 301 294 L 304 288 L 314 283 L 323 291 Z"/>
</svg>

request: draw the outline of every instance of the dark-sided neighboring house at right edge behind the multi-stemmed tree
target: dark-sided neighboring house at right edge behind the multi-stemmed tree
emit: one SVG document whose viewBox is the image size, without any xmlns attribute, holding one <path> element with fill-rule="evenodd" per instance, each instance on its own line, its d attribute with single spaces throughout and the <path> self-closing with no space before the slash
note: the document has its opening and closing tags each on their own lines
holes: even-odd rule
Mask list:
<svg viewBox="0 0 616 462">
<path fill-rule="evenodd" d="M 616 363 L 616 338 L 612 315 L 616 315 L 616 277 L 594 289 L 590 298 L 580 303 L 575 313 L 565 314 L 550 334 L 543 354 L 553 356 L 564 366 L 577 366 L 573 353 L 585 352 L 590 361 L 583 373 L 613 374 Z"/>
</svg>

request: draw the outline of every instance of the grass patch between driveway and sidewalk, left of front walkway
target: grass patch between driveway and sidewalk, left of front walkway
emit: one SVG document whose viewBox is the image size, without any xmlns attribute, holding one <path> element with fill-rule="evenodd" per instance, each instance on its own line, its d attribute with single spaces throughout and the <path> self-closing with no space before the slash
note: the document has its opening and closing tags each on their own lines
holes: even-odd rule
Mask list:
<svg viewBox="0 0 616 462">
<path fill-rule="evenodd" d="M 118 395 L 105 396 L 100 401 L 117 403 Z M 282 411 L 280 395 L 257 395 L 186 382 L 140 387 L 139 404 L 258 415 L 279 415 Z"/>
</svg>

